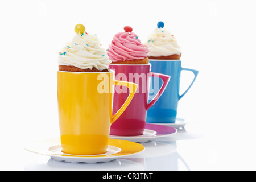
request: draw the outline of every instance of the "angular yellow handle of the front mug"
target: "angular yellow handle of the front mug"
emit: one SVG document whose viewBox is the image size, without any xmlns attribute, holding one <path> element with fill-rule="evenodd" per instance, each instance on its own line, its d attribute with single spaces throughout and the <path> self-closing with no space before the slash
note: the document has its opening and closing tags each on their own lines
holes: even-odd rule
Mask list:
<svg viewBox="0 0 256 182">
<path fill-rule="evenodd" d="M 132 82 L 127 82 L 127 81 L 115 80 L 115 85 L 126 86 L 127 88 L 129 88 L 130 93 L 129 93 L 129 96 L 127 97 L 125 103 L 122 105 L 122 107 L 117 111 L 117 113 L 115 113 L 115 115 L 112 116 L 111 124 L 113 124 L 113 122 L 115 122 L 123 114 L 123 112 L 129 106 L 129 104 L 130 104 L 131 100 L 133 99 L 134 94 L 138 88 L 137 84 L 134 84 Z"/>
</svg>

